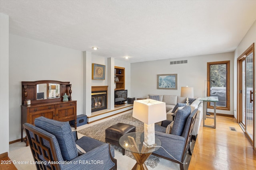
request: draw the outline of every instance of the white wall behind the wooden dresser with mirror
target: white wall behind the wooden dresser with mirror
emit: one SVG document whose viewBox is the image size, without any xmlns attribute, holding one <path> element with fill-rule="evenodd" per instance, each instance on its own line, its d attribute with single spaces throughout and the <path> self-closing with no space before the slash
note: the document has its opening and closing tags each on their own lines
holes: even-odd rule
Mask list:
<svg viewBox="0 0 256 170">
<path fill-rule="evenodd" d="M 22 81 L 70 82 L 72 100 L 77 100 L 77 114 L 82 114 L 83 55 L 81 51 L 10 34 L 9 53 L 10 141 L 21 138 Z"/>
</svg>

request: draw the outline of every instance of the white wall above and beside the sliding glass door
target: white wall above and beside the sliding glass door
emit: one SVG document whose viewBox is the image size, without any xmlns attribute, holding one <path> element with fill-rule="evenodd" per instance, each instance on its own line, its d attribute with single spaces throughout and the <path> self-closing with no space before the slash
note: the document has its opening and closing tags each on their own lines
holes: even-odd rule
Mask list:
<svg viewBox="0 0 256 170">
<path fill-rule="evenodd" d="M 248 32 L 246 33 L 246 35 L 244 36 L 244 38 L 242 39 L 242 41 L 240 42 L 240 44 L 238 45 L 238 47 L 235 50 L 234 53 L 234 108 L 237 108 L 237 58 L 242 55 L 242 53 L 244 53 L 244 51 L 246 51 L 246 49 L 248 49 L 248 47 L 250 47 L 250 45 L 252 45 L 252 43 L 254 43 L 254 57 L 256 57 L 255 53 L 255 48 L 256 48 L 256 21 L 252 24 L 252 26 L 250 27 L 250 29 L 248 30 Z M 254 58 L 254 62 L 255 62 L 255 58 Z M 255 69 L 255 65 L 254 65 L 254 87 L 256 86 L 256 69 Z M 256 98 L 256 90 L 254 90 L 254 99 Z M 254 149 L 256 146 L 256 114 L 255 114 L 255 108 L 256 108 L 256 102 L 254 102 Z M 235 117 L 237 117 L 237 113 L 234 114 Z"/>
</svg>

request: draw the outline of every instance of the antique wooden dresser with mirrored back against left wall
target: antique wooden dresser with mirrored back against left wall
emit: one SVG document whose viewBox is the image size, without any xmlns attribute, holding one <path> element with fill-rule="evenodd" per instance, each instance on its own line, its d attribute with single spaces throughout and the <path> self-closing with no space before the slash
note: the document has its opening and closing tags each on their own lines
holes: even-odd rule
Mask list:
<svg viewBox="0 0 256 170">
<path fill-rule="evenodd" d="M 71 100 L 70 82 L 42 80 L 35 82 L 22 82 L 21 105 L 21 141 L 23 141 L 23 124 L 34 125 L 37 117 L 44 116 L 57 121 L 75 120 L 76 129 L 76 100 Z M 64 95 L 68 101 L 63 101 Z M 30 100 L 30 104 L 27 101 Z M 26 146 L 28 141 L 25 139 Z"/>
</svg>

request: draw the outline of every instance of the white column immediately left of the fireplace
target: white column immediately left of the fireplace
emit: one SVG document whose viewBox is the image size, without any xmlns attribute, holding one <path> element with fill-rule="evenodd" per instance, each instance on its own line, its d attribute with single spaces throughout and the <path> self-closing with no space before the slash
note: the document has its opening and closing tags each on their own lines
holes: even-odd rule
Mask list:
<svg viewBox="0 0 256 170">
<path fill-rule="evenodd" d="M 91 115 L 92 98 L 92 53 L 84 51 L 83 65 L 83 114 Z"/>
</svg>

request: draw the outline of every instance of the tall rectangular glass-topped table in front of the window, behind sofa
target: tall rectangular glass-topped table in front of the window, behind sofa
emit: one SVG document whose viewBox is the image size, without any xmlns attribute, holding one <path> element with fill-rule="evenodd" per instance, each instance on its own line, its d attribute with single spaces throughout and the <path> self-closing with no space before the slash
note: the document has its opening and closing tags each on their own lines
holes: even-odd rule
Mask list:
<svg viewBox="0 0 256 170">
<path fill-rule="evenodd" d="M 203 101 L 203 109 L 204 109 L 204 111 L 203 111 L 203 126 L 204 127 L 211 127 L 211 128 L 216 129 L 216 102 L 219 102 L 218 97 L 208 96 L 208 97 L 204 97 L 204 98 L 198 98 L 198 100 Z M 214 108 L 214 125 L 213 126 L 204 124 L 204 120 L 206 119 L 206 108 L 207 108 L 206 102 L 213 102 L 214 103 L 214 107 L 213 107 Z"/>
</svg>

